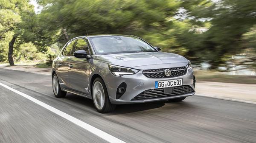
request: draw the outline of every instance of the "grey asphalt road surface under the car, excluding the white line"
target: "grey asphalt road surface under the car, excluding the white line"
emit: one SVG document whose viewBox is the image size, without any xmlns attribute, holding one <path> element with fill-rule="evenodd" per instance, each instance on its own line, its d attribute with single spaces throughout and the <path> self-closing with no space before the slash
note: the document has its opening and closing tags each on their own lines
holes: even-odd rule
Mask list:
<svg viewBox="0 0 256 143">
<path fill-rule="evenodd" d="M 256 104 L 191 96 L 119 105 L 96 112 L 90 99 L 55 98 L 51 77 L 0 68 L 0 83 L 25 93 L 125 142 L 255 143 Z M 86 129 L 0 86 L 0 143 L 106 142 Z"/>
</svg>

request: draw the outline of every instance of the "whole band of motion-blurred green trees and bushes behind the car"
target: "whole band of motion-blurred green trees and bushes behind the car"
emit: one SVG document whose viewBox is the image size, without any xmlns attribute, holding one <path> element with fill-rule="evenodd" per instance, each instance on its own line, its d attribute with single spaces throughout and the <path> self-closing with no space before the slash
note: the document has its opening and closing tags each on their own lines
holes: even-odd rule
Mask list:
<svg viewBox="0 0 256 143">
<path fill-rule="evenodd" d="M 29 0 L 0 1 L 0 62 L 45 60 L 69 39 L 90 34 L 128 34 L 192 64 L 211 69 L 256 67 L 255 0 Z M 243 58 L 234 59 L 234 55 Z M 9 54 L 9 62 L 10 60 Z M 230 67 L 229 67 L 230 66 Z"/>
</svg>

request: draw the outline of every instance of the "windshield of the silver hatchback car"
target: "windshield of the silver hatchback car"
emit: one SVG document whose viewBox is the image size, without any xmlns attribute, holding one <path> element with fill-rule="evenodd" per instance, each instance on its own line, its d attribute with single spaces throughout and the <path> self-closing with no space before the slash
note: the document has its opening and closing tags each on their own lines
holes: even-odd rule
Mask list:
<svg viewBox="0 0 256 143">
<path fill-rule="evenodd" d="M 90 38 L 98 55 L 113 53 L 157 52 L 143 40 L 130 36 L 102 36 Z"/>
</svg>

